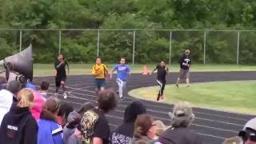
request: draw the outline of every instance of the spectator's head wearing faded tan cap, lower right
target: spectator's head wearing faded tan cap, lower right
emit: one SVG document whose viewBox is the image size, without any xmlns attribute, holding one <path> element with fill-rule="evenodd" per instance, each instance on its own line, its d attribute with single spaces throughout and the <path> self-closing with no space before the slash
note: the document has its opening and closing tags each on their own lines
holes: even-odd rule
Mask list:
<svg viewBox="0 0 256 144">
<path fill-rule="evenodd" d="M 189 127 L 194 121 L 192 106 L 189 102 L 178 102 L 174 105 L 173 112 L 169 113 L 172 126 L 175 128 Z"/>
</svg>

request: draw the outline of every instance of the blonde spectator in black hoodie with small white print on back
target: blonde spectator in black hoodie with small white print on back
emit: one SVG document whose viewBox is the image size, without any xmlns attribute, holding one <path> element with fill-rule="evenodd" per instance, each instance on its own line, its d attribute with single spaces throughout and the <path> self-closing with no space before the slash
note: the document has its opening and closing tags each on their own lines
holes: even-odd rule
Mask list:
<svg viewBox="0 0 256 144">
<path fill-rule="evenodd" d="M 13 103 L 2 119 L 0 144 L 37 143 L 38 125 L 30 114 L 34 95 L 31 90 L 23 89 L 18 93 L 18 103 Z"/>
</svg>

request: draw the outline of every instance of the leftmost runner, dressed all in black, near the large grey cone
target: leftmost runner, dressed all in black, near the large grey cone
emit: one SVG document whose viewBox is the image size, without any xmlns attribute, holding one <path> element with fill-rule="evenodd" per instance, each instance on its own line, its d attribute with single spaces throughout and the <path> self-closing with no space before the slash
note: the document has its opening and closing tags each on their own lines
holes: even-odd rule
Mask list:
<svg viewBox="0 0 256 144">
<path fill-rule="evenodd" d="M 66 66 L 67 66 L 68 74 L 70 74 L 70 68 L 69 68 L 68 62 L 65 60 L 62 54 L 58 54 L 58 61 L 54 63 L 55 70 L 57 70 L 57 74 L 55 76 L 55 84 L 56 84 L 55 96 L 58 95 L 58 89 L 60 86 L 62 86 L 62 90 L 64 91 L 63 93 L 64 98 L 67 98 L 66 87 L 65 87 Z"/>
</svg>

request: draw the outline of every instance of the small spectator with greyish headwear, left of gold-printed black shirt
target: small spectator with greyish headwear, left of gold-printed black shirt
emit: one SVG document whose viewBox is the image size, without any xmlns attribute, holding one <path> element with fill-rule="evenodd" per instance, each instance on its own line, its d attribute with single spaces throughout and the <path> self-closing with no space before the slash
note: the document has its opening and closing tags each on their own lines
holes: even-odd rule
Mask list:
<svg viewBox="0 0 256 144">
<path fill-rule="evenodd" d="M 69 116 L 67 117 L 67 123 L 66 126 L 63 129 L 63 138 L 64 143 L 72 143 L 69 141 L 73 141 L 73 143 L 76 143 L 76 138 L 71 138 L 72 134 L 74 134 L 74 130 L 78 126 L 78 124 L 81 121 L 81 116 L 76 112 L 72 111 Z M 72 139 L 72 140 L 71 140 Z M 82 142 L 82 141 L 81 141 Z"/>
</svg>

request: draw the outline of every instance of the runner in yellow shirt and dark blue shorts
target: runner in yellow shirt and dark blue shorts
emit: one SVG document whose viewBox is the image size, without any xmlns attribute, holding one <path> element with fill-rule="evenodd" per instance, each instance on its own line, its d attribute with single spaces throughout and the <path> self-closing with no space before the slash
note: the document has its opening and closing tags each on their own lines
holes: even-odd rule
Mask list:
<svg viewBox="0 0 256 144">
<path fill-rule="evenodd" d="M 96 64 L 92 69 L 92 74 L 95 78 L 96 92 L 98 93 L 98 91 L 104 90 L 106 86 L 106 75 L 108 74 L 108 71 L 106 66 L 102 64 L 102 58 L 96 58 Z"/>
</svg>

